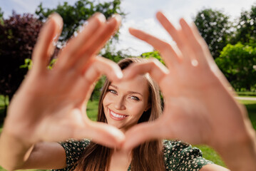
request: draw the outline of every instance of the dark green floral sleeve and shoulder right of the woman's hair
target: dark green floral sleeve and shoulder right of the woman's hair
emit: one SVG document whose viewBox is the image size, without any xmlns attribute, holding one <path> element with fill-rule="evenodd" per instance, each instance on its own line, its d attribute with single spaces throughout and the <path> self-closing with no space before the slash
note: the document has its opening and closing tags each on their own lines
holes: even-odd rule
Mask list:
<svg viewBox="0 0 256 171">
<path fill-rule="evenodd" d="M 200 170 L 213 163 L 203 158 L 201 150 L 179 140 L 164 140 L 163 155 L 167 170 Z"/>
</svg>

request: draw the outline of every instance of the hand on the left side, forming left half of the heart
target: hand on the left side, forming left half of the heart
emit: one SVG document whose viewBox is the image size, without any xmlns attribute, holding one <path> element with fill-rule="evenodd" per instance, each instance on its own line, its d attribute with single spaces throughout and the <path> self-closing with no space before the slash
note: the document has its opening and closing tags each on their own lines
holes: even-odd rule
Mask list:
<svg viewBox="0 0 256 171">
<path fill-rule="evenodd" d="M 113 81 L 122 77 L 116 63 L 96 57 L 120 23 L 121 16 L 106 21 L 102 14 L 95 14 L 59 53 L 56 66 L 48 70 L 63 25 L 58 14 L 51 15 L 34 48 L 34 66 L 11 100 L 3 133 L 28 144 L 92 138 L 109 147 L 120 145 L 123 133 L 105 123 L 89 120 L 85 107 L 93 83 L 102 73 Z"/>
</svg>

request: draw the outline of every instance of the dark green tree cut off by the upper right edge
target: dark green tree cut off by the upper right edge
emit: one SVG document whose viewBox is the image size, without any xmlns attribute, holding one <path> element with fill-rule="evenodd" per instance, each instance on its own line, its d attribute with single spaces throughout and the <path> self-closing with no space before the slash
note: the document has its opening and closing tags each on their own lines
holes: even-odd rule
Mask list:
<svg viewBox="0 0 256 171">
<path fill-rule="evenodd" d="M 235 41 L 241 43 L 256 43 L 256 5 L 250 11 L 241 13 L 237 24 Z"/>
</svg>

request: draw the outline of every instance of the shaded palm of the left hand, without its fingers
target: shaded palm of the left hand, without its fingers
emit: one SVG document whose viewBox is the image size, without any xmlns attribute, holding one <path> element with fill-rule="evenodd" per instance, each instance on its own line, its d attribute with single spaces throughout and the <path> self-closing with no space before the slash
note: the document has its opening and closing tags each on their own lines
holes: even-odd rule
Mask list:
<svg viewBox="0 0 256 171">
<path fill-rule="evenodd" d="M 24 108 L 30 111 L 15 116 L 17 120 L 19 117 L 21 123 L 32 125 L 26 132 L 28 135 L 39 135 L 42 140 L 65 140 L 72 137 L 72 133 L 68 133 L 68 130 L 74 130 L 71 127 L 85 126 L 86 119 L 82 115 L 81 107 L 89 87 L 82 76 L 77 77 L 75 81 L 71 81 L 68 76 L 58 76 L 57 72 L 48 71 L 43 76 L 31 76 L 26 80 L 23 89 L 20 90 L 22 94 L 19 94 L 14 103 L 22 103 L 23 99 L 19 97 L 26 95 L 29 98 L 29 103 L 26 103 L 27 107 Z M 31 88 L 29 85 L 32 85 L 32 82 Z M 29 106 L 35 105 L 35 101 L 38 107 L 31 111 L 33 108 Z M 60 134 L 60 130 L 63 134 Z"/>
</svg>

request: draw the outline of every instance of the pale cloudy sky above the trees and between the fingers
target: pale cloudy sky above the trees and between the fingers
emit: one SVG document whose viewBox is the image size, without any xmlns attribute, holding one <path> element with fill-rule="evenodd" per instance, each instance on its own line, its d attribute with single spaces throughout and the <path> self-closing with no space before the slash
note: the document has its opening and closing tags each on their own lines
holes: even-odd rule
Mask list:
<svg viewBox="0 0 256 171">
<path fill-rule="evenodd" d="M 0 7 L 4 11 L 6 19 L 11 15 L 12 10 L 15 10 L 17 14 L 33 14 L 40 2 L 43 3 L 43 7 L 54 8 L 59 3 L 63 4 L 63 1 L 68 1 L 68 4 L 76 2 L 76 0 L 0 0 Z M 191 22 L 198 11 L 208 8 L 221 10 L 230 16 L 231 21 L 234 21 L 242 11 L 250 10 L 252 5 L 256 5 L 256 0 L 122 0 L 121 8 L 127 16 L 122 21 L 119 41 L 115 44 L 115 48 L 116 51 L 121 50 L 132 56 L 153 51 L 153 48 L 147 43 L 131 36 L 128 33 L 129 27 L 140 28 L 172 43 L 168 33 L 155 19 L 155 13 L 159 10 L 163 11 L 175 26 L 178 26 L 178 20 L 181 17 Z"/>
</svg>

